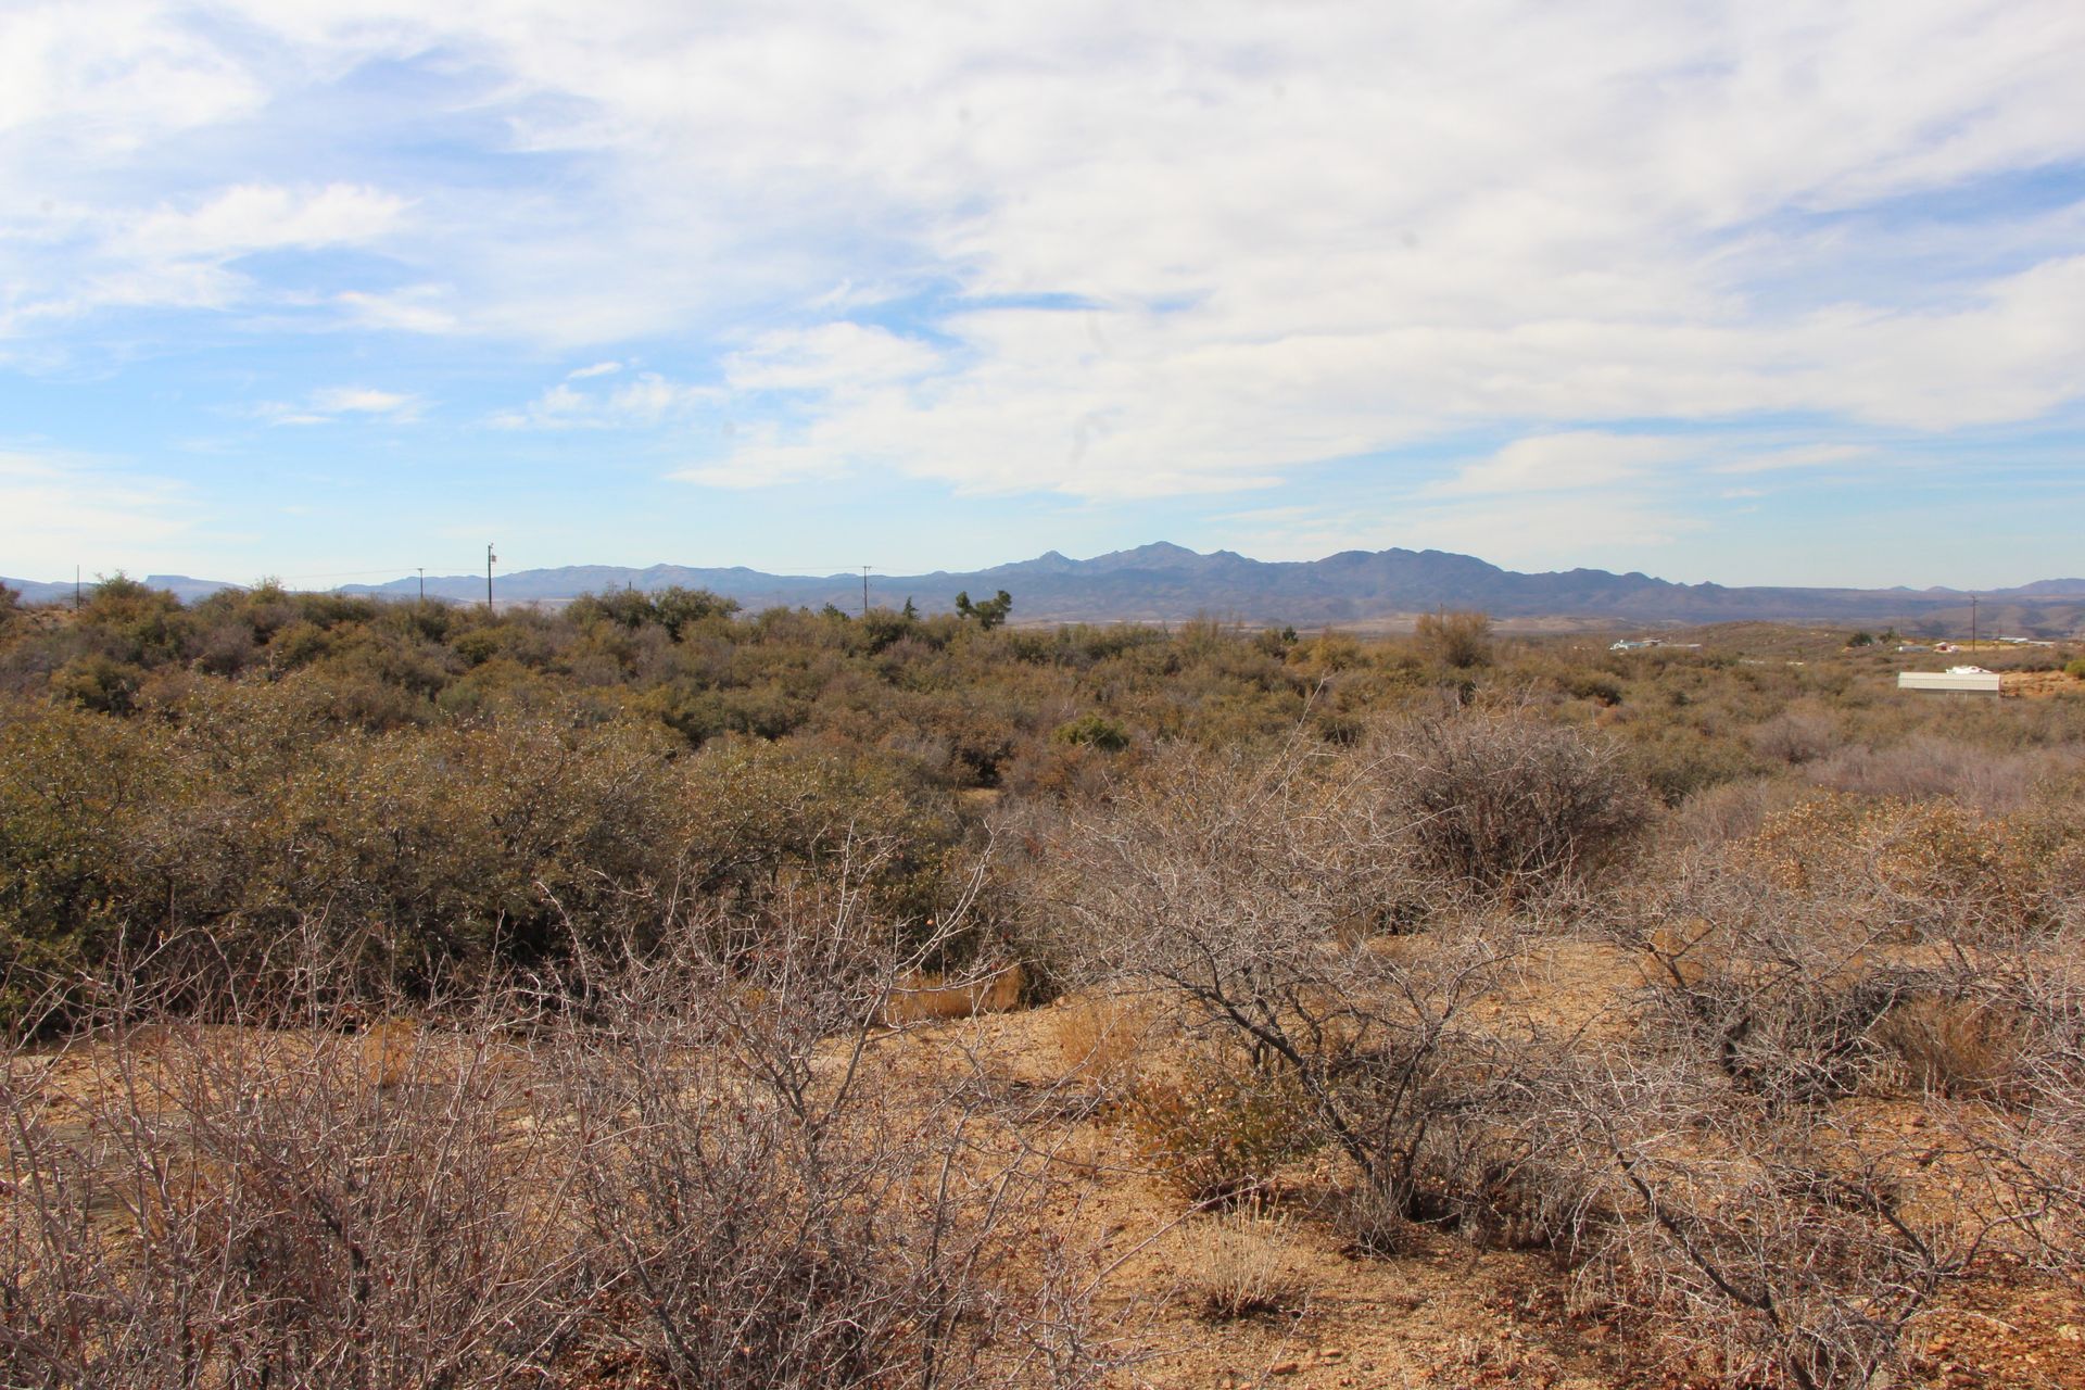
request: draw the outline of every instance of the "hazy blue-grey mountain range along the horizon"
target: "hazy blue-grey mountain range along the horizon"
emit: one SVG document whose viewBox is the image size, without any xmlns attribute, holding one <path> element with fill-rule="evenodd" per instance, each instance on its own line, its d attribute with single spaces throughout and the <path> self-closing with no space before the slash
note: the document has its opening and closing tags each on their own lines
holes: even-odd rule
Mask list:
<svg viewBox="0 0 2085 1390">
<path fill-rule="evenodd" d="M 148 575 L 154 588 L 200 598 L 211 579 Z M 71 584 L 0 579 L 31 602 L 67 600 Z M 861 575 L 769 575 L 757 569 L 688 565 L 571 565 L 496 575 L 500 602 L 555 604 L 580 594 L 669 586 L 703 588 L 749 609 L 861 606 Z M 1243 623 L 1395 625 L 1434 609 L 1482 609 L 1495 619 L 1568 619 L 1576 625 L 1683 625 L 1743 619 L 1818 623 L 1895 623 L 1908 631 L 1966 627 L 1964 590 L 1816 590 L 1672 584 L 1605 569 L 1516 573 L 1443 550 L 1343 550 L 1322 561 L 1251 561 L 1230 550 L 1199 554 L 1174 544 L 1115 550 L 1090 561 L 1051 550 L 1032 561 L 967 573 L 872 575 L 872 602 L 911 598 L 924 613 L 947 611 L 959 590 L 972 598 L 1013 594 L 1015 621 L 1180 621 L 1207 613 Z M 342 594 L 411 598 L 419 579 L 350 584 Z M 427 596 L 482 600 L 484 575 L 430 575 Z M 1977 594 L 1985 631 L 2070 636 L 2085 631 L 2085 579 L 2041 579 Z"/>
</svg>

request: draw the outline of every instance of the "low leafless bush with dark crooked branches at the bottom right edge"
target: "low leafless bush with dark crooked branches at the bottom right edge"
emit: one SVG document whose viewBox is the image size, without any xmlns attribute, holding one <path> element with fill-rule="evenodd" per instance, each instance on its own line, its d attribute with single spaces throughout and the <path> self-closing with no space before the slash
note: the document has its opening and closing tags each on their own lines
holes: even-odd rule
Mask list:
<svg viewBox="0 0 2085 1390">
<path fill-rule="evenodd" d="M 1580 1280 L 1728 1384 L 1889 1384 L 1991 1232 L 1918 1196 L 1931 1155 L 1776 1111 L 1691 1059 L 1587 1069 L 1557 1098 Z"/>
</svg>

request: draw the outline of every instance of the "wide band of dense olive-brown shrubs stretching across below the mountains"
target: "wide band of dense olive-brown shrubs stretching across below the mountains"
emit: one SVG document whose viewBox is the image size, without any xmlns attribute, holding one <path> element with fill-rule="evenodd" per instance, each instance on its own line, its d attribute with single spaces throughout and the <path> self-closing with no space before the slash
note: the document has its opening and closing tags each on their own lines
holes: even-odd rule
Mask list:
<svg viewBox="0 0 2085 1390">
<path fill-rule="evenodd" d="M 1359 642 L 746 615 L 686 590 L 492 615 L 263 584 L 183 606 L 113 579 L 77 611 L 0 609 L 0 1011 L 19 1027 L 117 961 L 261 979 L 288 940 L 425 988 L 648 940 L 676 904 L 771 894 L 865 836 L 899 846 L 878 909 L 917 923 L 1005 798 L 1105 798 L 1174 742 L 1357 746 L 1453 706 L 1591 736 L 1397 734 L 1430 867 L 1489 888 L 1566 852 L 1499 840 L 1528 796 L 1637 817 L 1601 769 L 1697 806 L 1787 769 L 2018 798 L 2085 731 L 2077 702 L 1906 706 L 1851 659 L 1612 654 L 1499 640 L 1480 615 Z"/>
</svg>

